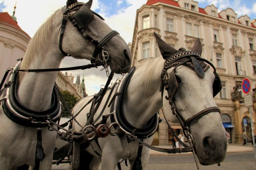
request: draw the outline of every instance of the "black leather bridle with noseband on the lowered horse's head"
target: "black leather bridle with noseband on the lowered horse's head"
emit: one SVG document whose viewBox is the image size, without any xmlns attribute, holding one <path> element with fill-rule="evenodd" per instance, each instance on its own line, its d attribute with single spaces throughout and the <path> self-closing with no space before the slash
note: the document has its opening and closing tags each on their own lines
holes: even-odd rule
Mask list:
<svg viewBox="0 0 256 170">
<path fill-rule="evenodd" d="M 220 84 L 221 80 L 219 78 L 219 75 L 216 73 L 216 69 L 211 62 L 205 60 L 204 58 L 201 57 L 201 55 L 195 52 L 183 51 L 183 52 L 174 54 L 168 60 L 166 60 L 164 69 L 161 74 L 162 85 L 161 85 L 160 91 L 162 92 L 162 98 L 163 98 L 163 92 L 165 88 L 168 94 L 168 96 L 165 96 L 165 98 L 169 100 L 169 104 L 171 105 L 171 108 L 172 108 L 172 113 L 174 114 L 175 117 L 178 118 L 183 131 L 186 132 L 185 135 L 189 133 L 188 132 L 189 125 L 192 122 L 196 121 L 198 118 L 211 112 L 220 113 L 220 109 L 218 107 L 209 107 L 209 108 L 203 109 L 203 111 L 198 112 L 194 116 L 185 120 L 179 113 L 173 101 L 173 97 L 178 90 L 178 82 L 174 73 L 175 69 L 180 65 L 186 65 L 191 67 L 200 77 L 203 78 L 204 72 L 209 69 L 209 65 L 206 65 L 204 62 L 211 65 L 214 69 L 213 72 L 215 75 L 215 80 L 214 80 L 213 86 L 215 87 L 213 87 L 213 96 L 215 96 L 221 90 L 221 84 Z M 168 75 L 167 70 L 170 69 L 171 67 L 174 67 L 174 69 L 171 71 L 170 75 Z"/>
</svg>

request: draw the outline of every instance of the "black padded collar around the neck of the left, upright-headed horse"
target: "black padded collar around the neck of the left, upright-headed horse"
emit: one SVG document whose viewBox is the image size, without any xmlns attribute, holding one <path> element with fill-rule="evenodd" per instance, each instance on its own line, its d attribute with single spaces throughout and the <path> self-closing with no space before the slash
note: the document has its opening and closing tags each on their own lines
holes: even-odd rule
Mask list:
<svg viewBox="0 0 256 170">
<path fill-rule="evenodd" d="M 7 117 L 15 123 L 33 128 L 43 128 L 48 126 L 48 121 L 57 122 L 61 116 L 61 106 L 58 97 L 58 92 L 54 88 L 52 93 L 52 105 L 50 109 L 43 112 L 31 111 L 23 106 L 18 100 L 17 94 L 17 77 L 21 61 L 15 66 L 11 72 L 9 80 L 6 83 L 3 96 L 3 111 Z M 9 82 L 9 83 L 8 83 Z"/>
</svg>

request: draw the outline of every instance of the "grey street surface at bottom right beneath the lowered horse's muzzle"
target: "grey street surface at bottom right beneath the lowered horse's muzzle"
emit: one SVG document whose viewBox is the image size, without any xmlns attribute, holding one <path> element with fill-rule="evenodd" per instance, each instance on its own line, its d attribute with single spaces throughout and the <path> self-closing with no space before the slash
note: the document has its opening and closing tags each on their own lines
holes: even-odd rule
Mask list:
<svg viewBox="0 0 256 170">
<path fill-rule="evenodd" d="M 122 170 L 128 170 L 124 162 L 121 163 Z M 221 166 L 199 165 L 201 170 L 241 170 L 241 169 L 256 169 L 253 152 L 227 154 L 226 159 L 221 163 Z M 171 169 L 171 170 L 196 170 L 193 155 L 174 154 L 171 156 L 150 156 L 147 170 L 156 169 Z M 116 168 L 117 170 L 117 168 Z"/>
</svg>

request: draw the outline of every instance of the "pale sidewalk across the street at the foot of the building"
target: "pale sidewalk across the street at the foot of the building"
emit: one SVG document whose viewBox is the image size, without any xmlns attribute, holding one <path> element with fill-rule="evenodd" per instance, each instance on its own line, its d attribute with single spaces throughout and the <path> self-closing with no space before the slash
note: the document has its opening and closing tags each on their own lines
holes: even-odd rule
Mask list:
<svg viewBox="0 0 256 170">
<path fill-rule="evenodd" d="M 159 147 L 159 148 L 172 148 L 172 145 L 169 146 L 155 146 L 155 147 Z M 228 145 L 228 149 L 227 149 L 227 153 L 237 153 L 237 152 L 253 152 L 253 146 L 251 145 L 251 143 L 248 143 L 247 146 L 243 146 L 242 144 L 230 144 Z M 180 153 L 180 154 L 192 154 L 192 152 L 187 152 L 187 153 Z M 158 152 L 155 150 L 151 150 L 149 151 L 149 155 L 150 156 L 170 156 L 173 154 L 167 154 L 164 152 Z"/>
</svg>

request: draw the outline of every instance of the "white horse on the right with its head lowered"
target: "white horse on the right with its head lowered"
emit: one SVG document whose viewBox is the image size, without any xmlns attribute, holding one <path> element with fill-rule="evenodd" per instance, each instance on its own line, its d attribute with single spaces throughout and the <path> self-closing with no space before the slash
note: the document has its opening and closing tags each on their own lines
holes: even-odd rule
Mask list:
<svg viewBox="0 0 256 170">
<path fill-rule="evenodd" d="M 115 94 L 114 105 L 118 105 L 118 102 L 121 101 L 121 106 L 119 105 L 114 109 L 107 107 L 103 113 L 103 115 L 110 114 L 110 117 L 113 116 L 108 118 L 106 123 L 112 127 L 110 132 L 114 133 L 115 129 L 112 123 L 116 121 L 114 124 L 120 124 L 125 133 L 134 132 L 136 136 L 143 136 L 143 131 L 150 129 L 150 122 L 154 122 L 155 113 L 163 107 L 165 115 L 170 121 L 178 122 L 177 117 L 173 115 L 174 113 L 172 114 L 173 110 L 173 112 L 177 112 L 177 116 L 181 119 L 180 124 L 188 128 L 187 135 L 194 138 L 192 145 L 202 165 L 222 162 L 226 156 L 227 133 L 221 123 L 219 109 L 213 100 L 213 96 L 218 94 L 221 89 L 220 79 L 218 74 L 215 73 L 215 75 L 210 69 L 209 65 L 199 61 L 203 60 L 199 57 L 202 53 L 201 42 L 198 41 L 199 39 L 196 41 L 193 49 L 191 49 L 192 52 L 183 52 L 167 45 L 158 36 L 156 36 L 156 39 L 164 59 L 162 57 L 149 59 L 147 63 L 136 68 L 129 84 L 125 85 L 127 86 L 125 91 L 121 91 L 121 94 L 115 93 L 117 88 L 115 87 L 114 92 L 110 94 L 109 89 L 103 99 L 103 101 L 106 101 L 109 94 L 111 95 L 110 99 L 112 99 Z M 175 60 L 175 58 L 178 59 Z M 191 61 L 191 58 L 193 58 L 193 61 Z M 195 58 L 197 58 L 196 61 Z M 200 66 L 198 66 L 198 63 Z M 197 67 L 199 67 L 199 70 L 196 69 Z M 162 74 L 163 77 L 161 77 L 161 73 L 164 73 Z M 123 81 L 123 79 L 117 80 L 117 82 Z M 163 81 L 162 84 L 161 81 Z M 160 87 L 163 89 L 163 97 L 159 92 Z M 167 90 L 164 90 L 164 88 L 167 88 Z M 120 96 L 123 97 L 118 99 Z M 165 99 L 165 96 L 168 100 Z M 91 98 L 81 99 L 74 107 L 74 115 L 81 111 L 76 117 L 80 124 L 85 124 L 87 120 L 86 114 L 89 113 L 91 106 L 83 107 Z M 104 103 L 103 101 L 102 103 Z M 172 108 L 169 102 L 173 104 Z M 99 116 L 102 108 L 103 104 L 99 107 L 94 118 Z M 117 115 L 122 110 L 123 113 L 121 114 L 123 115 Z M 99 121 L 95 123 L 99 123 Z M 125 125 L 125 123 L 127 124 Z M 122 124 L 124 124 L 123 127 Z M 76 131 L 81 129 L 76 123 L 73 126 Z M 154 132 L 155 126 L 153 125 L 153 129 L 145 134 L 144 142 L 151 144 Z M 99 138 L 98 145 L 93 141 L 86 149 L 94 156 L 90 169 L 98 169 L 101 163 L 101 169 L 113 170 L 121 159 L 128 159 L 131 169 L 133 169 L 133 164 L 138 155 L 138 145 L 138 141 L 129 143 L 130 155 L 129 152 L 127 154 L 127 150 L 123 150 L 121 140 L 117 136 L 108 135 L 106 138 Z M 143 147 L 141 154 L 143 169 L 145 169 L 148 159 L 149 149 Z"/>
</svg>

